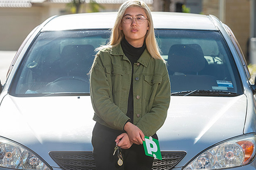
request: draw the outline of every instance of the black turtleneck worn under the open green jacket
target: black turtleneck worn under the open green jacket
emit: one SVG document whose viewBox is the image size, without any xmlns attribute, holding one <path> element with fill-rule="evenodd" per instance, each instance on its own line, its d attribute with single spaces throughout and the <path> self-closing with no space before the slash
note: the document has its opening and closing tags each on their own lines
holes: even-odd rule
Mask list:
<svg viewBox="0 0 256 170">
<path fill-rule="evenodd" d="M 128 109 L 127 109 L 126 115 L 128 117 L 130 117 L 130 119 L 131 119 L 130 122 L 133 123 L 133 88 L 132 88 L 133 70 L 134 70 L 133 68 L 134 68 L 134 64 L 137 62 L 137 60 L 139 59 L 141 54 L 145 51 L 146 45 L 144 43 L 142 47 L 136 48 L 136 47 L 133 47 L 132 45 L 130 45 L 128 43 L 128 41 L 124 38 L 121 41 L 121 47 L 124 51 L 124 55 L 126 55 L 126 57 L 130 60 L 130 62 L 132 64 L 132 80 L 131 80 L 131 85 L 130 85 L 129 98 L 128 98 Z"/>
</svg>

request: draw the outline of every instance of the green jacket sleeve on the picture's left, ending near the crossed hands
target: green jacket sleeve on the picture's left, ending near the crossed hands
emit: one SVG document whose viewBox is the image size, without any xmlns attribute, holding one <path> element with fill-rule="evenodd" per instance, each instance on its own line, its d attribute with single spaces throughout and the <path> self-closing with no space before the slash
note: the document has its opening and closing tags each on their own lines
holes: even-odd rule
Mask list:
<svg viewBox="0 0 256 170">
<path fill-rule="evenodd" d="M 108 83 L 101 55 L 102 53 L 99 53 L 95 57 L 91 69 L 90 93 L 93 109 L 95 114 L 110 127 L 123 130 L 125 123 L 130 120 L 130 118 L 111 101 L 111 87 Z"/>
</svg>

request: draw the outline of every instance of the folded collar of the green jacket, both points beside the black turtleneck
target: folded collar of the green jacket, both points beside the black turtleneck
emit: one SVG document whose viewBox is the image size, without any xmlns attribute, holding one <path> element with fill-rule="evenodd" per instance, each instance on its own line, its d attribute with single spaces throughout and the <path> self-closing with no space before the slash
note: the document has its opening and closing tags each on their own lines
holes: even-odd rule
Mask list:
<svg viewBox="0 0 256 170">
<path fill-rule="evenodd" d="M 111 55 L 122 55 L 124 60 L 129 60 L 123 52 L 123 49 L 121 47 L 121 44 L 119 43 L 116 47 L 111 48 L 110 51 Z M 147 67 L 150 62 L 151 55 L 148 52 L 147 48 L 145 51 L 141 54 L 141 57 L 139 57 L 138 63 L 142 64 L 143 66 Z"/>
</svg>

